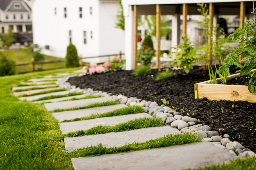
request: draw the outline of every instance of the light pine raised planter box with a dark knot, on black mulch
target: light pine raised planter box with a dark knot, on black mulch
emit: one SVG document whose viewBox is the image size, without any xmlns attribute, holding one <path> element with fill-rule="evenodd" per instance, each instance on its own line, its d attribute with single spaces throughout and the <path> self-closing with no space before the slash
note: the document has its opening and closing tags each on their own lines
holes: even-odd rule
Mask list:
<svg viewBox="0 0 256 170">
<path fill-rule="evenodd" d="M 255 72 L 256 69 L 251 71 Z M 256 73 L 255 73 L 256 74 Z M 239 77 L 240 73 L 228 76 L 227 80 Z M 220 78 L 218 78 L 220 79 Z M 220 83 L 220 81 L 217 82 Z M 254 93 L 251 94 L 247 86 L 226 85 L 226 84 L 210 84 L 210 80 L 194 84 L 195 98 L 202 99 L 206 97 L 208 100 L 231 100 L 231 101 L 248 101 L 256 103 L 256 86 Z"/>
</svg>

